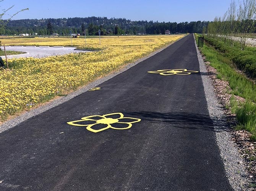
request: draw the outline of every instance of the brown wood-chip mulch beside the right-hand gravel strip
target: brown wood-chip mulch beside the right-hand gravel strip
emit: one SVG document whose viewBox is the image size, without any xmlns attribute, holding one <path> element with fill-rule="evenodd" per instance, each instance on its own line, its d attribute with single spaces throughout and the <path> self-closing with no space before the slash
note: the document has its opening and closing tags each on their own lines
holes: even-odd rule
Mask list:
<svg viewBox="0 0 256 191">
<path fill-rule="evenodd" d="M 204 57 L 203 57 L 204 58 Z M 205 60 L 205 59 L 204 59 Z M 227 81 L 217 79 L 217 70 L 210 66 L 209 62 L 204 62 L 209 74 L 209 78 L 212 80 L 214 85 L 214 91 L 217 95 L 218 100 L 222 105 L 229 105 L 230 98 L 232 97 L 230 92 L 230 86 Z M 235 99 L 244 102 L 243 97 L 234 95 Z M 237 124 L 235 114 L 233 114 L 229 109 L 225 110 L 225 115 L 228 117 L 228 122 L 230 126 L 234 127 Z M 250 140 L 251 133 L 246 130 L 235 130 L 231 129 L 230 134 L 232 135 L 232 141 L 238 146 L 241 156 L 245 159 L 245 166 L 249 172 L 250 178 L 254 181 L 256 180 L 256 142 Z"/>
</svg>

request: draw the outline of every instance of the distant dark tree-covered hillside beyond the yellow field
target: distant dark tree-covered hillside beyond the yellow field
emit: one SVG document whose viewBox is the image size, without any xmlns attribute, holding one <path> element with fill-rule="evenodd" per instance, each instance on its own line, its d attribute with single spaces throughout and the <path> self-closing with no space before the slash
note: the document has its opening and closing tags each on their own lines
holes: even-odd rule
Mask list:
<svg viewBox="0 0 256 191">
<path fill-rule="evenodd" d="M 102 34 L 164 34 L 165 30 L 171 33 L 197 32 L 201 33 L 207 28 L 209 21 L 159 23 L 153 21 L 131 21 L 125 18 L 86 17 L 86 18 L 48 18 L 48 19 L 21 19 L 11 20 L 5 28 L 0 29 L 0 34 L 37 33 L 39 35 L 58 33 L 68 35 L 82 34 L 84 29 L 89 35 L 97 35 L 100 29 Z"/>
</svg>

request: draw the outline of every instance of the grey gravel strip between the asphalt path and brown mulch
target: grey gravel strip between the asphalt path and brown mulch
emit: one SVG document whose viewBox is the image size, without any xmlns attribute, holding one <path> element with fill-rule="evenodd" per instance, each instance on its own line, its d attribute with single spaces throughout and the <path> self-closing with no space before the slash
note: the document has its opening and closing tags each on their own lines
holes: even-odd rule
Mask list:
<svg viewBox="0 0 256 191">
<path fill-rule="evenodd" d="M 220 156 L 224 163 L 226 176 L 228 177 L 229 183 L 234 190 L 246 190 L 250 180 L 247 178 L 248 173 L 245 170 L 246 168 L 243 163 L 243 158 L 241 157 L 236 144 L 232 142 L 232 136 L 228 133 L 229 128 L 227 118 L 224 114 L 224 108 L 215 96 L 214 86 L 212 85 L 211 79 L 207 75 L 206 66 L 197 46 L 196 51 L 198 54 L 200 72 L 203 73 L 201 78 L 203 81 L 204 93 L 206 95 L 207 107 L 209 110 L 209 115 L 214 123 L 216 142 L 219 147 Z"/>
</svg>

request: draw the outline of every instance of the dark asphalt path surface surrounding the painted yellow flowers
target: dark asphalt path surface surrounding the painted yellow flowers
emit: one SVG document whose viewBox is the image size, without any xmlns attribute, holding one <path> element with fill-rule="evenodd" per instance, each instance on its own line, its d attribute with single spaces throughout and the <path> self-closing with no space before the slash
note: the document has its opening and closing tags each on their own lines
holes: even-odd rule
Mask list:
<svg viewBox="0 0 256 191">
<path fill-rule="evenodd" d="M 232 190 L 225 176 L 193 35 L 64 104 L 0 134 L 0 190 Z M 68 121 L 141 119 L 98 133 Z M 82 123 L 81 123 L 82 124 Z"/>
</svg>

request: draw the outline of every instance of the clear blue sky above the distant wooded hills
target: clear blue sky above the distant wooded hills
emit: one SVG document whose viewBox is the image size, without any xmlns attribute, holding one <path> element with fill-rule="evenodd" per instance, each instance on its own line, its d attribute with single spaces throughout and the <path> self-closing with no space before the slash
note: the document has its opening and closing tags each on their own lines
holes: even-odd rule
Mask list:
<svg viewBox="0 0 256 191">
<path fill-rule="evenodd" d="M 29 8 L 13 19 L 106 16 L 131 21 L 213 21 L 228 10 L 231 0 L 4 0 L 0 9 L 15 5 L 8 14 Z M 4 16 L 6 19 L 8 16 Z"/>
</svg>

